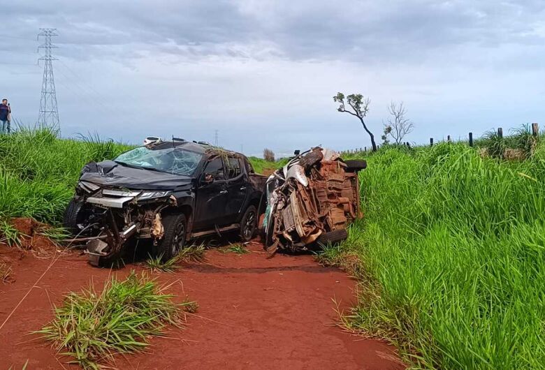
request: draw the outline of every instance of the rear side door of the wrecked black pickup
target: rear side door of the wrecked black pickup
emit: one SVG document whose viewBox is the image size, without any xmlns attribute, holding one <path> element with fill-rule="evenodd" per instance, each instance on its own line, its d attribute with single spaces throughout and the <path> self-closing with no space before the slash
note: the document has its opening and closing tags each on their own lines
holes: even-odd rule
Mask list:
<svg viewBox="0 0 545 370">
<path fill-rule="evenodd" d="M 226 218 L 228 223 L 240 221 L 245 209 L 247 194 L 250 191 L 246 171 L 244 170 L 241 158 L 228 156 L 226 158 L 227 175 L 227 205 Z"/>
</svg>

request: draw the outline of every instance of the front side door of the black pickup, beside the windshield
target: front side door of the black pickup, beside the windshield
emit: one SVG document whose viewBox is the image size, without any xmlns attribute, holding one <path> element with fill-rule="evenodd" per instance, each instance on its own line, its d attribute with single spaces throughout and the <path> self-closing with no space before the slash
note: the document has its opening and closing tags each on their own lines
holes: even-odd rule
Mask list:
<svg viewBox="0 0 545 370">
<path fill-rule="evenodd" d="M 205 176 L 212 182 L 204 182 Z M 227 187 L 224 163 L 221 157 L 213 158 L 203 170 L 203 178 L 197 188 L 195 209 L 196 230 L 214 228 L 214 225 L 226 224 L 225 212 L 227 204 Z"/>
</svg>

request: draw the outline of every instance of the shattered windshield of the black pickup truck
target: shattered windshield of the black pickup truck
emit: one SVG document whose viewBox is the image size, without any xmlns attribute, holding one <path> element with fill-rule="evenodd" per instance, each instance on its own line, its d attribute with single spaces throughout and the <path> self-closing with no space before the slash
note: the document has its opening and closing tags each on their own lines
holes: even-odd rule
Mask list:
<svg viewBox="0 0 545 370">
<path fill-rule="evenodd" d="M 203 158 L 203 154 L 180 147 L 167 149 L 138 147 L 121 154 L 115 158 L 115 162 L 129 167 L 191 176 L 201 158 Z"/>
</svg>

